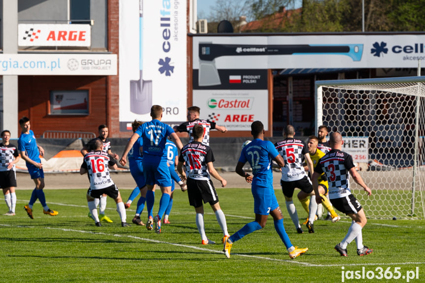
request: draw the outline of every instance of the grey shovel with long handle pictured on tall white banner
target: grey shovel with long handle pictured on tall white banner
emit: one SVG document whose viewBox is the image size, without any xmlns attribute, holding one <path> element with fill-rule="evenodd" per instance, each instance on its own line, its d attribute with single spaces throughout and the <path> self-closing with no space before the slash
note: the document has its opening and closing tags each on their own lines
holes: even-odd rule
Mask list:
<svg viewBox="0 0 425 283">
<path fill-rule="evenodd" d="M 147 114 L 152 107 L 152 81 L 143 80 L 143 0 L 139 0 L 139 69 L 137 81 L 130 81 L 130 111 L 135 114 Z"/>
</svg>

